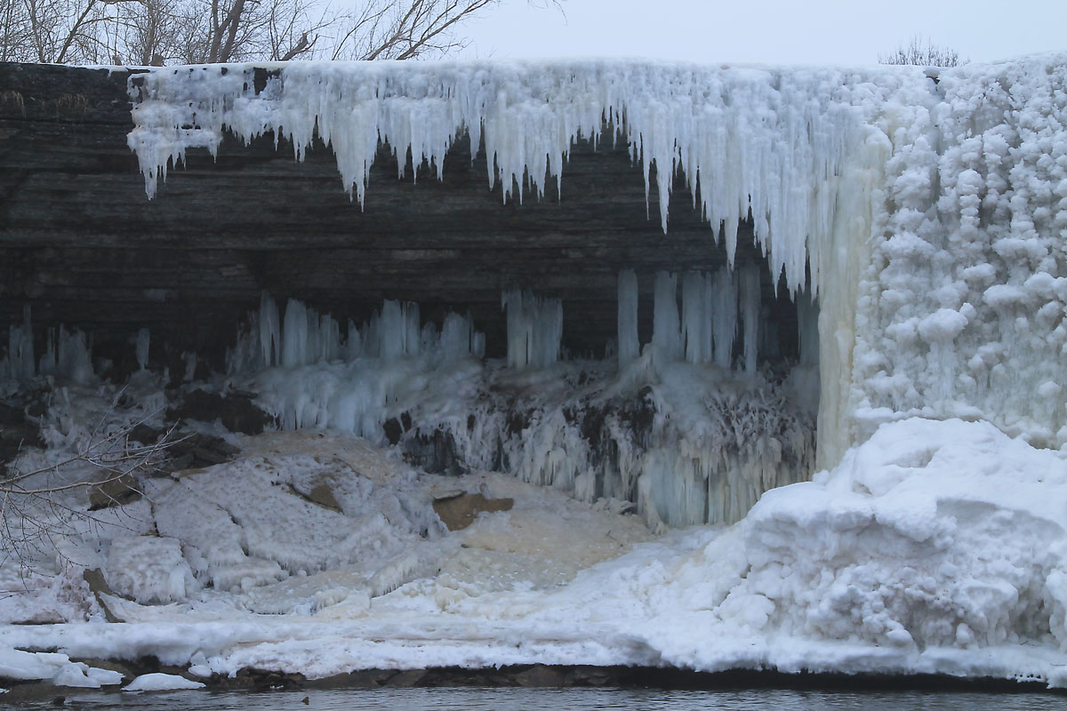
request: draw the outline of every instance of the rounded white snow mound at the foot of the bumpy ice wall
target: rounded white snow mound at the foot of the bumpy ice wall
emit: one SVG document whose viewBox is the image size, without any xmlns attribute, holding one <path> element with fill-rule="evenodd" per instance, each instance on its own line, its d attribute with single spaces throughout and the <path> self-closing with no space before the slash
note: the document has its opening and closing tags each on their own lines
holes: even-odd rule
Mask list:
<svg viewBox="0 0 1067 711">
<path fill-rule="evenodd" d="M 1057 454 L 988 423 L 906 420 L 767 492 L 742 526 L 750 569 L 730 595 L 816 640 L 1063 647 L 1065 524 Z"/>
</svg>

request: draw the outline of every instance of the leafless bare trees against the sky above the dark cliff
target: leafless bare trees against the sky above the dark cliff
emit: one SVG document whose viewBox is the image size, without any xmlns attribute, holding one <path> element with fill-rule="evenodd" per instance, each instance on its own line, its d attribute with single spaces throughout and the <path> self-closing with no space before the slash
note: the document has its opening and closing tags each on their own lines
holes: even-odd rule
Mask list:
<svg viewBox="0 0 1067 711">
<path fill-rule="evenodd" d="M 405 60 L 465 46 L 499 0 L 0 0 L 0 61 Z M 550 0 L 555 4 L 555 0 Z"/>
</svg>

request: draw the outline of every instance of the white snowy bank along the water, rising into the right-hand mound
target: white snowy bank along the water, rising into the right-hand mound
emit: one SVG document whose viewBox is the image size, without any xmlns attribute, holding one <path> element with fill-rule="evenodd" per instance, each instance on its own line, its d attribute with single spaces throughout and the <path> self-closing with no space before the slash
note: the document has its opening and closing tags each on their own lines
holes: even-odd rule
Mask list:
<svg viewBox="0 0 1067 711">
<path fill-rule="evenodd" d="M 195 658 L 223 674 L 540 662 L 1064 686 L 1065 501 L 1057 454 L 986 423 L 912 419 L 767 494 L 734 527 L 639 544 L 563 586 L 458 594 L 421 579 L 349 617 L 131 604 L 125 625 L 0 628 L 0 647 Z"/>
</svg>

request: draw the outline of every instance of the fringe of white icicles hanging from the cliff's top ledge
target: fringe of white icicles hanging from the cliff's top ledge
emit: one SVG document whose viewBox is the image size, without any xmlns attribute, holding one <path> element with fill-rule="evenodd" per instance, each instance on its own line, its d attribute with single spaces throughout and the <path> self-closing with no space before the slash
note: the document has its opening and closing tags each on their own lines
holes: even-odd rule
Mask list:
<svg viewBox="0 0 1067 711">
<path fill-rule="evenodd" d="M 625 141 L 640 162 L 647 193 L 656 164 L 665 231 L 680 167 L 694 206 L 716 232 L 721 224 L 731 261 L 738 221 L 751 210 L 774 274 L 784 272 L 794 291 L 805 284 L 809 240 L 831 232 L 845 165 L 863 160 L 864 115 L 886 100 L 887 90 L 866 75 L 886 86 L 898 88 L 903 80 L 928 91 L 915 70 L 881 76 L 609 60 L 289 63 L 266 70 L 271 77 L 258 93 L 251 65 L 157 69 L 130 79 L 129 146 L 149 197 L 188 148 L 214 155 L 228 130 L 245 143 L 268 132 L 275 141 L 284 136 L 298 160 L 320 138 L 362 205 L 380 141 L 400 157 L 401 173 L 410 149 L 416 164 L 429 161 L 440 178 L 445 152 L 466 131 L 472 156 L 484 139 L 490 184 L 499 180 L 505 199 L 522 200 L 528 189 L 541 196 L 575 139 L 600 140 L 607 122 L 616 131 L 609 138 Z M 816 285 L 819 264 L 812 259 Z"/>
</svg>

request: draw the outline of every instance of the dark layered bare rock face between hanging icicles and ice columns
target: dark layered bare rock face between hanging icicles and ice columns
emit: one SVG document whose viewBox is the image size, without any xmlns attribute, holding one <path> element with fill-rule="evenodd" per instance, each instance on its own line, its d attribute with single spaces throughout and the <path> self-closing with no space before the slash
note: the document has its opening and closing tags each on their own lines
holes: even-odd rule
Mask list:
<svg viewBox="0 0 1067 711">
<path fill-rule="evenodd" d="M 0 322 L 29 305 L 37 339 L 79 327 L 94 356 L 120 366 L 145 327 L 155 363 L 176 368 L 185 351 L 219 362 L 262 291 L 356 322 L 383 298 L 417 302 L 439 324 L 446 309 L 468 310 L 493 357 L 506 349 L 501 290 L 532 289 L 562 298 L 563 346 L 599 357 L 616 334 L 621 269 L 637 272 L 648 342 L 654 274 L 726 262 L 687 191 L 675 191 L 663 233 L 655 191 L 647 203 L 640 167 L 609 142 L 577 144 L 561 187 L 550 179 L 545 197 L 521 204 L 487 188 L 484 152 L 472 159 L 465 141 L 443 180 L 410 156 L 398 178 L 382 145 L 361 209 L 321 143 L 296 162 L 273 135 L 229 136 L 214 160 L 190 151 L 148 200 L 126 141 L 130 71 L 0 65 Z M 742 229 L 738 264 L 762 259 Z M 761 273 L 783 351 L 795 352 L 792 304 Z"/>
</svg>

